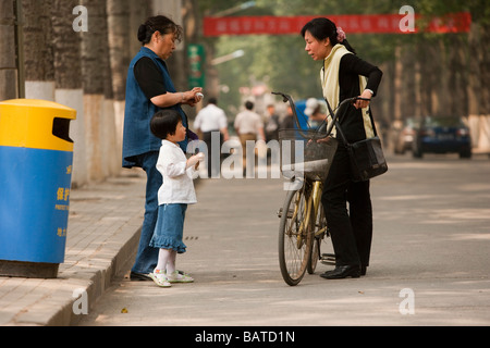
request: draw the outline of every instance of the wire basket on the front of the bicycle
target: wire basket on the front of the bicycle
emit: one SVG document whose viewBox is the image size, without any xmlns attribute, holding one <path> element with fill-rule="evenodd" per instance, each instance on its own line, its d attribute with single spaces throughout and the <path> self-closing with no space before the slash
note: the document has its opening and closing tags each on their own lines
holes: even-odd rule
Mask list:
<svg viewBox="0 0 490 348">
<path fill-rule="evenodd" d="M 339 142 L 318 130 L 280 129 L 282 175 L 324 181 Z"/>
</svg>

